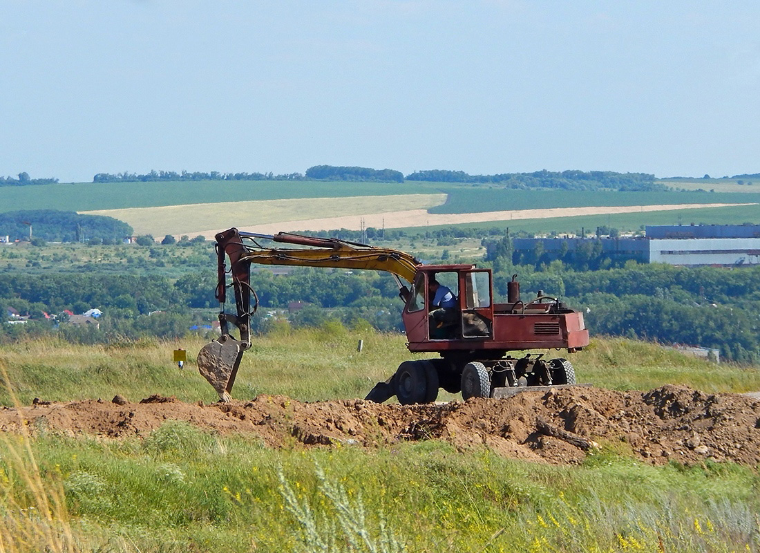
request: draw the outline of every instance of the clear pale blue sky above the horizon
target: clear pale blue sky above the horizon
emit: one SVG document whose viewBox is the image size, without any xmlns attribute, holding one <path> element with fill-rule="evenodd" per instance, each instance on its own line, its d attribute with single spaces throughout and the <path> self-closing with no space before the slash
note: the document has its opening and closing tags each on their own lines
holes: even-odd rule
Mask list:
<svg viewBox="0 0 760 553">
<path fill-rule="evenodd" d="M 0 0 L 0 175 L 760 171 L 760 2 Z"/>
</svg>

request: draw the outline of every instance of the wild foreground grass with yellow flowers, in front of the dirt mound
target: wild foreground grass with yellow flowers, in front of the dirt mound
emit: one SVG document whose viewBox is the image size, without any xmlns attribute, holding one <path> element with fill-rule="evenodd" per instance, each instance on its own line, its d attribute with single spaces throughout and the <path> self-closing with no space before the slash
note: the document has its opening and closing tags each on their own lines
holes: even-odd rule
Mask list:
<svg viewBox="0 0 760 553">
<path fill-rule="evenodd" d="M 31 448 L 43 485 L 62 482 L 80 550 L 760 550 L 754 470 L 651 467 L 609 447 L 578 467 L 435 441 L 268 450 L 170 421 L 144 441 Z M 26 480 L 3 489 L 27 505 Z"/>
</svg>

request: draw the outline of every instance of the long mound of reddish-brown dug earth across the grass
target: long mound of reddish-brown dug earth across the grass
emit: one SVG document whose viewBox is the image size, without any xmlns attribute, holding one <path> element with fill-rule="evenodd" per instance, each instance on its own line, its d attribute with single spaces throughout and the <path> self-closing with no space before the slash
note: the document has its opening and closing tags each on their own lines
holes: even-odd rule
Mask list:
<svg viewBox="0 0 760 553">
<path fill-rule="evenodd" d="M 283 396 L 209 405 L 161 396 L 120 403 L 38 401 L 21 412 L 2 408 L 0 430 L 19 431 L 26 424 L 33 433 L 119 438 L 144 436 L 164 421 L 178 420 L 222 434 L 252 434 L 270 447 L 378 447 L 440 439 L 461 450 L 486 446 L 511 458 L 564 464 L 580 462 L 588 448 L 607 442 L 625 443 L 633 455 L 654 464 L 671 459 L 760 463 L 760 400 L 684 386 L 648 393 L 576 387 L 409 406 L 302 403 Z"/>
</svg>

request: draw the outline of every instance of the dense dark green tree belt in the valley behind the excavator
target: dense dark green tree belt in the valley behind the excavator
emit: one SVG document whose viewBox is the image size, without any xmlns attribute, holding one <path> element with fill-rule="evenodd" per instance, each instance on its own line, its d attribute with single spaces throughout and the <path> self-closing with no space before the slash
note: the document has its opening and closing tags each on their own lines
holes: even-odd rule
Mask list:
<svg viewBox="0 0 760 553">
<path fill-rule="evenodd" d="M 699 345 L 719 349 L 721 357 L 730 361 L 760 363 L 760 299 L 755 292 L 760 289 L 760 267 L 726 270 L 653 264 L 575 271 L 554 261 L 537 270 L 532 265 L 512 265 L 508 259 L 492 266 L 496 301 L 505 301 L 508 281 L 517 273 L 523 300 L 538 290 L 562 297 L 584 313 L 592 335 Z M 200 317 L 198 310 L 211 316 L 217 307 L 215 286 L 211 264 L 209 270 L 188 272 L 175 281 L 138 275 L 0 274 L 0 309 L 29 313 L 40 328 L 55 332 L 49 328 L 52 323 L 41 319 L 43 311 L 82 313 L 98 307 L 105 312 L 102 329 L 88 330 L 87 339 L 108 338 L 108 332 L 115 332 L 108 328 L 119 328 L 124 336 L 145 335 L 149 329 L 161 337 L 182 336 L 192 332 L 189 327 Z M 260 302 L 252 323 L 257 332 L 266 332 L 277 320 L 267 316 L 268 309 L 287 310 L 296 301 L 307 307 L 291 313 L 290 324 L 333 319 L 401 330 L 401 300 L 393 279 L 382 272 L 293 269 L 275 276 L 261 269 L 252 273 L 252 287 Z M 234 310 L 232 305 L 227 308 Z M 159 319 L 154 318 L 156 311 L 164 312 Z M 162 321 L 160 329 L 155 328 L 157 321 Z M 0 339 L 34 328 L 0 325 Z"/>
</svg>

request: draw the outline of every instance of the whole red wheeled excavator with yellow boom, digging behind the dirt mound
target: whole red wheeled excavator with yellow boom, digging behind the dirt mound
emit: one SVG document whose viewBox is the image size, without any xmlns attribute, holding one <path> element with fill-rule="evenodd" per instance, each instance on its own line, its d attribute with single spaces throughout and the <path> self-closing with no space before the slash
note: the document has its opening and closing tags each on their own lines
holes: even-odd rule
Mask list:
<svg viewBox="0 0 760 553">
<path fill-rule="evenodd" d="M 469 399 L 499 396 L 499 390 L 505 389 L 575 384 L 575 370 L 566 359 L 545 360 L 543 354 L 525 351 L 580 351 L 588 345 L 583 314 L 543 291 L 521 300 L 517 275 L 508 282 L 507 301 L 497 303 L 491 270 L 476 265 L 425 265 L 395 249 L 289 233 L 268 235 L 231 228 L 217 234 L 216 240 L 215 295 L 221 306 L 221 335 L 201 348 L 198 370 L 223 402 L 230 401 L 240 360 L 251 347 L 251 318 L 258 307 L 250 279 L 252 264 L 369 269 L 392 275 L 404 301 L 401 319 L 407 348 L 436 357 L 404 361 L 393 376 L 372 388 L 366 396 L 369 401 L 385 402 L 396 396 L 398 402 L 409 405 L 434 402 L 441 388 Z M 268 246 L 269 242 L 275 246 Z M 454 294 L 454 322 L 435 324 L 429 317 L 433 279 Z M 225 310 L 229 288 L 235 298 L 234 313 Z M 523 353 L 512 357 L 516 351 Z"/>
</svg>

